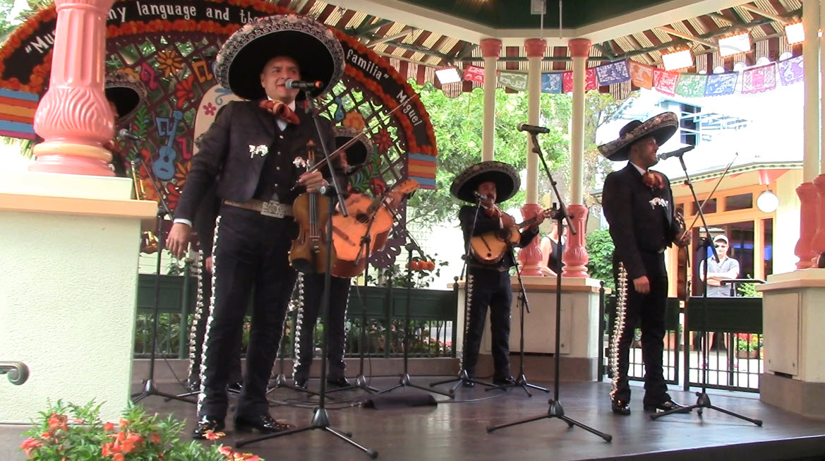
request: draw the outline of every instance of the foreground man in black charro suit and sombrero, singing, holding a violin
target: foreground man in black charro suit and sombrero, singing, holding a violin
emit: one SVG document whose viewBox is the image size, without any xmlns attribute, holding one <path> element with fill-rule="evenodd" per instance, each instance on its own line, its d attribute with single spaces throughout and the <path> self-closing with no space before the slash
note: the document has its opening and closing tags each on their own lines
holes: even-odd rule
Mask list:
<svg viewBox="0 0 825 461">
<path fill-rule="evenodd" d="M 304 92 L 286 81 L 319 81 L 311 95 L 319 96 L 341 78 L 343 67 L 343 50 L 332 31 L 295 15 L 244 26 L 215 60 L 221 86 L 248 101 L 230 102 L 201 139 L 168 238 L 173 254 L 186 251 L 196 206 L 216 183 L 222 205 L 214 230 L 214 305 L 205 334 L 196 438 L 224 429 L 229 365 L 253 290 L 247 368 L 234 426 L 262 432 L 290 427 L 269 415 L 266 385 L 296 278 L 288 260 L 297 233 L 291 205 L 300 192 L 327 184 L 321 172 L 299 167 L 307 143 L 332 149 L 335 141 L 330 122 L 320 119 L 318 133 L 312 117 L 295 104 Z M 333 173 L 342 174 L 340 163 Z"/>
</svg>

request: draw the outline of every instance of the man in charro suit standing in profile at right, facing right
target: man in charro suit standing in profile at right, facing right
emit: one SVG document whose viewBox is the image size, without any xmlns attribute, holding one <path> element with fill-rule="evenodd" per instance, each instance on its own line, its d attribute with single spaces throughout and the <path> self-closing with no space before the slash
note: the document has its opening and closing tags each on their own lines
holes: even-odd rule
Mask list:
<svg viewBox="0 0 825 461">
<path fill-rule="evenodd" d="M 601 201 L 615 245 L 613 270 L 618 301 L 610 341 L 610 407 L 619 415 L 630 414 L 627 374 L 637 322 L 642 328 L 644 409 L 681 407 L 667 394 L 662 373 L 667 304 L 664 252 L 672 243 L 690 244 L 691 234 L 684 233 L 675 218 L 667 176 L 648 170 L 658 162 L 659 145 L 678 127 L 676 114 L 665 112 L 644 122 L 629 122 L 620 129 L 619 139 L 599 146 L 609 160 L 629 160 L 625 168 L 607 175 Z"/>
</svg>

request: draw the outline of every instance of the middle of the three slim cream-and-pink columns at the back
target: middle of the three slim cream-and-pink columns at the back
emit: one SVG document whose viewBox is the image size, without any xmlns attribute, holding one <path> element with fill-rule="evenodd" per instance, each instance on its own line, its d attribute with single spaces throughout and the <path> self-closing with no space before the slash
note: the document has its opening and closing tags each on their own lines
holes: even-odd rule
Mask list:
<svg viewBox="0 0 825 461">
<path fill-rule="evenodd" d="M 541 96 L 541 59 L 547 49 L 547 42 L 542 39 L 524 40 L 524 49 L 528 59 L 527 89 L 530 101 L 527 106 L 527 123 L 539 125 L 539 98 Z M 527 203 L 521 207 L 521 216 L 530 219 L 538 214 L 540 206 L 536 205 L 539 195 L 539 158 L 532 152 L 532 141 L 527 141 Z M 544 258 L 541 254 L 541 239 L 536 237 L 518 253 L 521 262 L 521 275 L 541 276 L 539 265 Z"/>
</svg>

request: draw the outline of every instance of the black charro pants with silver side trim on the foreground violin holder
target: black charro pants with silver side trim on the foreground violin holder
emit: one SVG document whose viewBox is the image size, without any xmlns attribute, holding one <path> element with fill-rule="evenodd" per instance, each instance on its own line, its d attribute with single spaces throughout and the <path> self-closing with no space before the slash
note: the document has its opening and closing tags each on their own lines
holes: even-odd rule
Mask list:
<svg viewBox="0 0 825 461">
<path fill-rule="evenodd" d="M 297 224 L 290 217 L 221 208 L 214 237 L 214 306 L 205 334 L 199 416 L 226 416 L 233 350 L 240 342 L 251 295 L 247 363 L 235 416 L 252 418 L 268 411 L 266 386 L 297 276 L 288 259 L 296 233 Z"/>
</svg>

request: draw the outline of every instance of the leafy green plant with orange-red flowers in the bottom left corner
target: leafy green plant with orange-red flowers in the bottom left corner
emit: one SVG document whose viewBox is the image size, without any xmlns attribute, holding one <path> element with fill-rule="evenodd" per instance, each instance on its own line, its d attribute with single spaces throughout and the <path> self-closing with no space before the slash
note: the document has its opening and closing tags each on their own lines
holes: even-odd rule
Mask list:
<svg viewBox="0 0 825 461">
<path fill-rule="evenodd" d="M 184 423 L 172 416 L 148 415 L 142 407 L 131 405 L 120 421 L 103 422 L 100 405 L 85 406 L 58 401 L 33 421 L 29 437 L 20 448 L 29 459 L 40 461 L 259 461 L 254 454 L 238 454 L 221 445 L 183 442 L 179 434 Z M 210 435 L 219 439 L 223 433 Z"/>
</svg>

